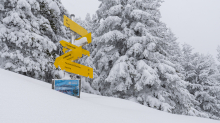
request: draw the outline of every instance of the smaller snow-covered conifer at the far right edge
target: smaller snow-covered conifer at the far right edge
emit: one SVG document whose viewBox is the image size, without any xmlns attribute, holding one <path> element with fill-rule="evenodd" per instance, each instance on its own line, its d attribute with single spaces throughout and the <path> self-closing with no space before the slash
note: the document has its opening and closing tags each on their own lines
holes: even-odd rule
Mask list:
<svg viewBox="0 0 220 123">
<path fill-rule="evenodd" d="M 199 102 L 195 108 L 208 114 L 203 117 L 219 119 L 220 75 L 214 59 L 210 55 L 192 53 L 192 47 L 187 44 L 182 51 L 185 80 L 190 82 L 188 90 Z"/>
</svg>

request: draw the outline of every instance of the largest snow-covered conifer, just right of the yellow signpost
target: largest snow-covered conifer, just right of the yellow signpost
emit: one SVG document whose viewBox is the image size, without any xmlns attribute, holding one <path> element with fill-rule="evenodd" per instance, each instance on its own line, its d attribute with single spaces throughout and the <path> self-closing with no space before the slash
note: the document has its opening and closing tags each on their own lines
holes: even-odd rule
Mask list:
<svg viewBox="0 0 220 123">
<path fill-rule="evenodd" d="M 161 0 L 100 1 L 92 53 L 98 77 L 92 87 L 102 95 L 189 114 L 196 102 L 176 64 L 176 39 L 160 21 Z"/>
</svg>

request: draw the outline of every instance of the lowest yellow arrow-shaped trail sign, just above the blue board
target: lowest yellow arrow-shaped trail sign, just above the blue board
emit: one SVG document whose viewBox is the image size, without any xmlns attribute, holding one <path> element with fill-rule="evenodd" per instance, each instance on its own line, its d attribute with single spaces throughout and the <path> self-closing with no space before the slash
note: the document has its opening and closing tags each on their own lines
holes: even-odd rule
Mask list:
<svg viewBox="0 0 220 123">
<path fill-rule="evenodd" d="M 62 59 L 59 62 L 61 70 L 65 70 L 70 73 L 82 75 L 85 77 L 93 78 L 93 69 L 75 62 Z"/>
</svg>

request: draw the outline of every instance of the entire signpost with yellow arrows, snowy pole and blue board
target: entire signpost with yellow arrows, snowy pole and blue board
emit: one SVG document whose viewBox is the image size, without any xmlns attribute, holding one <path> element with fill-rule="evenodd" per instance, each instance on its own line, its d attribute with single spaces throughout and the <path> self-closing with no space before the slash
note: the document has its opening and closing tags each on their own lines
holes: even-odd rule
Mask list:
<svg viewBox="0 0 220 123">
<path fill-rule="evenodd" d="M 90 56 L 90 52 L 83 49 L 82 46 L 92 42 L 92 34 L 88 33 L 86 29 L 74 22 L 74 17 L 74 15 L 71 15 L 71 20 L 64 15 L 63 23 L 66 27 L 72 30 L 72 37 L 70 42 L 66 42 L 64 40 L 60 41 L 60 44 L 63 46 L 64 54 L 56 58 L 54 65 L 56 68 L 59 66 L 61 70 L 65 70 L 66 72 L 93 78 L 93 68 L 73 62 L 81 58 L 82 55 Z M 81 35 L 82 37 L 75 39 L 75 33 Z M 66 53 L 66 51 L 69 52 Z M 78 85 L 76 84 L 77 82 Z M 80 80 L 52 80 L 52 89 L 73 96 L 76 95 L 77 86 L 79 88 L 79 95 L 77 97 L 80 97 L 81 77 Z"/>
</svg>

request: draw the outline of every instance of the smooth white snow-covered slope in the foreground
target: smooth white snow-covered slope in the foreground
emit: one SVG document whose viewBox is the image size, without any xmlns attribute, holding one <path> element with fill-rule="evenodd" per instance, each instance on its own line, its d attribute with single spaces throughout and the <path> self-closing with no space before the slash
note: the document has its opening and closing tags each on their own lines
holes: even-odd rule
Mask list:
<svg viewBox="0 0 220 123">
<path fill-rule="evenodd" d="M 75 98 L 51 84 L 0 69 L 0 123 L 219 123 L 112 97 Z"/>
</svg>

